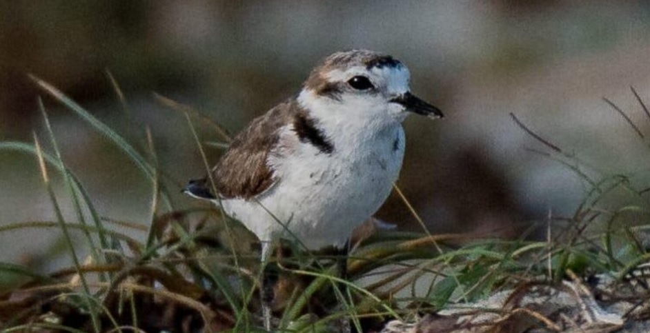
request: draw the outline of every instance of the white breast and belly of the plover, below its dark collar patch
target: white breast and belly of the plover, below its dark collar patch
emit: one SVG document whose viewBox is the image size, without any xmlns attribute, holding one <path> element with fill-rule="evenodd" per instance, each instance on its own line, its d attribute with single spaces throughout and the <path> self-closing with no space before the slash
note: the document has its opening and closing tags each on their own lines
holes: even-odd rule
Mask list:
<svg viewBox="0 0 650 333">
<path fill-rule="evenodd" d="M 310 249 L 340 247 L 384 203 L 403 157 L 400 124 L 351 144 L 335 141 L 331 154 L 296 143 L 271 160 L 277 183 L 255 199 L 222 205 L 261 241 L 296 237 Z"/>
</svg>

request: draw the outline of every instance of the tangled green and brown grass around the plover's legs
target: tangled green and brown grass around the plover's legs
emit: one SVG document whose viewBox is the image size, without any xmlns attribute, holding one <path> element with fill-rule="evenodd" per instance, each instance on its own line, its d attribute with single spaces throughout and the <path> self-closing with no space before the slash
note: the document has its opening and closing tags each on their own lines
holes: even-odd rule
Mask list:
<svg viewBox="0 0 650 333">
<path fill-rule="evenodd" d="M 128 115 L 124 94 L 110 73 L 109 79 Z M 0 263 L 0 273 L 17 276 L 20 281 L 0 290 L 3 330 L 259 331 L 259 248 L 255 237 L 214 208 L 178 208 L 170 191 L 177 191 L 173 184 L 179 182 L 159 170 L 155 142 L 148 130 L 144 147 L 138 149 L 49 83 L 37 77 L 32 80 L 137 166 L 150 183 L 150 224 L 142 228 L 97 212 L 95 199 L 61 158 L 60 149 L 65 147 L 57 145 L 48 112 L 39 100 L 52 152 L 42 148 L 44 139 L 36 135 L 33 143 L 2 142 L 0 150 L 31 154 L 37 159 L 55 219 L 10 223 L 0 226 L 0 232 L 60 230 L 73 266 L 36 274 L 20 265 Z M 227 132 L 208 117 L 165 97 L 157 95 L 156 99 L 185 115 L 201 152 L 203 143 L 194 129 L 197 122 L 215 130 L 224 141 L 220 146 L 228 143 Z M 422 223 L 423 232 L 375 232 L 357 240 L 347 258 L 305 253 L 289 242 L 275 263 L 277 331 L 337 332 L 346 325 L 357 332 L 377 330 L 389 319 L 414 320 L 420 314 L 471 303 L 523 283 L 558 282 L 569 271 L 584 276 L 606 272 L 625 279 L 647 261 L 647 246 L 640 236 L 647 227 L 627 225 L 625 219 L 630 212 L 649 212 L 646 195 L 650 191 L 636 188 L 624 175 L 595 174 L 574 154 L 512 117 L 544 146 L 544 150 L 534 152 L 562 163 L 587 183 L 590 190 L 572 216 L 549 213 L 546 221 L 533 224 L 515 240 L 489 235 L 432 235 Z M 633 128 L 644 139 L 639 128 Z M 63 179 L 65 195 L 72 199 L 74 220 L 61 214 L 60 194 L 52 190 L 50 181 L 53 172 Z M 617 190 L 631 194 L 642 204 L 601 207 L 600 203 Z M 408 205 L 399 188 L 397 191 Z M 589 232 L 597 221 L 604 222 L 605 231 Z M 547 238 L 529 240 L 526 235 L 535 228 L 546 228 Z M 73 233 L 81 234 L 83 244 L 73 241 Z M 346 279 L 337 273 L 338 260 L 346 262 Z"/>
</svg>

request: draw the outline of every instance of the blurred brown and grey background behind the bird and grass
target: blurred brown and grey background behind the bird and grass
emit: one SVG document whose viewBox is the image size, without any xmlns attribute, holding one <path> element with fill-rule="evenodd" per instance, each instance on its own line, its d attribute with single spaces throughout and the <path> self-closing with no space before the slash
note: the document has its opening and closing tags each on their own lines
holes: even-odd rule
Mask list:
<svg viewBox="0 0 650 333">
<path fill-rule="evenodd" d="M 508 235 L 506 227 L 549 212 L 572 214 L 589 191 L 566 166 L 526 150 L 544 147 L 511 112 L 594 165 L 590 172 L 649 183 L 647 142 L 602 101 L 650 133 L 629 88 L 650 101 L 647 1 L 2 1 L 0 139 L 31 142 L 36 132 L 47 141 L 43 92 L 28 79 L 35 74 L 139 148 L 149 128 L 176 192 L 204 166 L 183 114 L 154 92 L 236 133 L 297 92 L 320 59 L 351 48 L 404 61 L 415 94 L 446 113 L 405 123 L 399 184 L 432 232 Z M 148 223 L 151 185 L 135 165 L 73 112 L 44 101 L 63 159 L 99 212 Z M 197 126 L 204 141 L 219 139 Z M 208 148 L 209 159 L 219 152 Z M 57 194 L 74 222 L 65 189 Z M 176 208 L 201 205 L 174 195 Z M 397 197 L 378 216 L 419 228 Z M 0 224 L 54 219 L 35 158 L 0 151 Z M 2 261 L 46 267 L 56 253 L 67 258 L 64 249 L 59 230 L 0 233 Z"/>
</svg>

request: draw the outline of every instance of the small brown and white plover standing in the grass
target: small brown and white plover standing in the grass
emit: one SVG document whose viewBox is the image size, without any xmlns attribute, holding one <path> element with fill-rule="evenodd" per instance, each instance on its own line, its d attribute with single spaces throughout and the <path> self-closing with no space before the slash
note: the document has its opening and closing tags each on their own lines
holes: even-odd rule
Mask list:
<svg viewBox="0 0 650 333">
<path fill-rule="evenodd" d="M 442 117 L 411 94 L 409 79 L 388 54 L 332 54 L 185 192 L 244 223 L 262 242 L 263 263 L 279 238 L 310 250 L 342 247 L 391 193 L 404 157 L 402 121 L 411 113 Z"/>
</svg>

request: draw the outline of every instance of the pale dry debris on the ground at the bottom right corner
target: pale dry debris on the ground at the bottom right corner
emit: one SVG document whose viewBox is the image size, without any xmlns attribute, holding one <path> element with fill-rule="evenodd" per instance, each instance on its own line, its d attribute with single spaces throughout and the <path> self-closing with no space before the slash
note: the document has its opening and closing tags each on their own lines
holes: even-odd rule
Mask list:
<svg viewBox="0 0 650 333">
<path fill-rule="evenodd" d="M 610 275 L 552 284 L 526 282 L 489 299 L 456 304 L 408 321 L 390 321 L 381 333 L 606 333 L 650 332 L 647 275 Z"/>
</svg>

